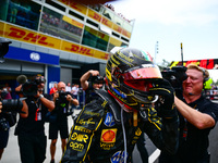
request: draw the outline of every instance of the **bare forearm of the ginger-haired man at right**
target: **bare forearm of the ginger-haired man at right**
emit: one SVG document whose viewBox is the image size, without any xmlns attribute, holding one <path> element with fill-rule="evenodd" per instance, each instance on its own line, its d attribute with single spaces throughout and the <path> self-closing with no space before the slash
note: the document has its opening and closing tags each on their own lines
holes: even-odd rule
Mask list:
<svg viewBox="0 0 218 163">
<path fill-rule="evenodd" d="M 198 129 L 205 129 L 215 126 L 215 120 L 210 115 L 201 113 L 199 111 L 189 106 L 177 97 L 174 97 L 174 104 L 182 116 Z"/>
</svg>

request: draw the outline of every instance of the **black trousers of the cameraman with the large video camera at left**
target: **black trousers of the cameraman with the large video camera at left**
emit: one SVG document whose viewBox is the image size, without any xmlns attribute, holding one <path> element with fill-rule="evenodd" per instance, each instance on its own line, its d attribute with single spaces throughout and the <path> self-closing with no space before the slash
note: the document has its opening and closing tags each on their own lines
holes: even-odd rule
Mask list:
<svg viewBox="0 0 218 163">
<path fill-rule="evenodd" d="M 17 138 L 22 163 L 43 163 L 45 161 L 47 145 L 45 134 L 20 134 Z"/>
</svg>

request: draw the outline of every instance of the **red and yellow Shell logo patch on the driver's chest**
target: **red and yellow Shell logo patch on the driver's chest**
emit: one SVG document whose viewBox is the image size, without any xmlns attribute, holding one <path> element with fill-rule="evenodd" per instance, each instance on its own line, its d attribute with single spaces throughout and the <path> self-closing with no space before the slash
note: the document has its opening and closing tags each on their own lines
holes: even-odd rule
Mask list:
<svg viewBox="0 0 218 163">
<path fill-rule="evenodd" d="M 117 129 L 102 129 L 100 141 L 101 142 L 116 142 Z"/>
</svg>

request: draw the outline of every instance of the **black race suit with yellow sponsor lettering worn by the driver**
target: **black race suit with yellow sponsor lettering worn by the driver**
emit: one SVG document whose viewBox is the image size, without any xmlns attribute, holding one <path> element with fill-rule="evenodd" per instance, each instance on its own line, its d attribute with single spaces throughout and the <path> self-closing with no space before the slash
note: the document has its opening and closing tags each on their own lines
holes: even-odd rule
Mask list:
<svg viewBox="0 0 218 163">
<path fill-rule="evenodd" d="M 138 123 L 132 123 L 132 113 L 124 112 L 128 162 L 141 134 L 146 133 L 160 150 L 173 153 L 178 143 L 178 115 L 174 109 L 166 111 L 168 117 L 157 116 L 154 108 L 146 117 L 138 112 Z M 86 104 L 71 129 L 61 163 L 121 163 L 124 155 L 121 108 L 107 96 Z"/>
</svg>

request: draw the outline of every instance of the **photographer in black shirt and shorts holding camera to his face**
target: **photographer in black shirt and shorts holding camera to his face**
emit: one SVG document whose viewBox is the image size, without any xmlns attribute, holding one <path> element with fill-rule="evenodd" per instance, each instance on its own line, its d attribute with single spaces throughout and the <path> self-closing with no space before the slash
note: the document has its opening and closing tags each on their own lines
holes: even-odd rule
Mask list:
<svg viewBox="0 0 218 163">
<path fill-rule="evenodd" d="M 62 151 L 66 145 L 66 138 L 69 137 L 69 103 L 78 105 L 78 101 L 73 99 L 70 92 L 65 92 L 65 84 L 63 82 L 58 83 L 58 91 L 53 93 L 53 102 L 56 103 L 56 109 L 51 114 L 56 114 L 57 117 L 53 122 L 49 123 L 49 139 L 51 139 L 51 163 L 55 163 L 56 143 L 59 130 L 61 135 Z"/>
</svg>

